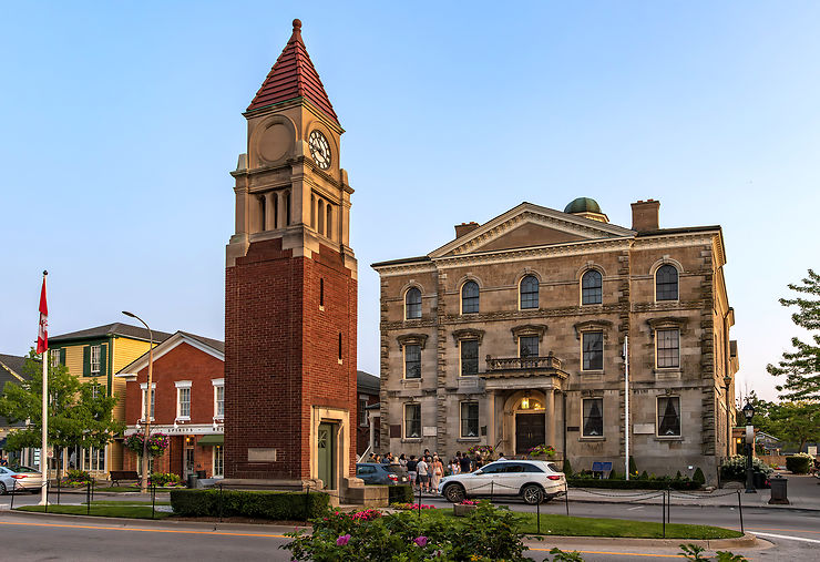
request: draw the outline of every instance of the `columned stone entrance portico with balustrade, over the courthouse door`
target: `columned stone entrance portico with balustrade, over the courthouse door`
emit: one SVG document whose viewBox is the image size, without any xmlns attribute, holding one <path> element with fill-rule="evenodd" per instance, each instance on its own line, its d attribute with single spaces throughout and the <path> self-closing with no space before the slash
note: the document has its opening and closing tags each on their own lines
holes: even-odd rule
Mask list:
<svg viewBox="0 0 820 562">
<path fill-rule="evenodd" d="M 509 454 L 526 454 L 539 445 L 551 445 L 563 457 L 563 440 L 556 428 L 563 427 L 563 408 L 556 401 L 563 392 L 567 374 L 561 361 L 546 357 L 488 357 L 488 370 L 482 374 L 494 413 L 490 420 L 489 440 Z"/>
</svg>

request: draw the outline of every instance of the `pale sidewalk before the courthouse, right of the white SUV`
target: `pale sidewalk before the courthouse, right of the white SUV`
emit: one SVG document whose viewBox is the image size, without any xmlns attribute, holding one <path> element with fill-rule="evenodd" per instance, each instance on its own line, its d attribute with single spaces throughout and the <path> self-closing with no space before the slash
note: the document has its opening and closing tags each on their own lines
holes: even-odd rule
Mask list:
<svg viewBox="0 0 820 562">
<path fill-rule="evenodd" d="M 739 491 L 740 502 L 745 508 L 820 511 L 820 486 L 818 486 L 820 480 L 804 474 L 782 476 L 788 480 L 789 505 L 770 504 L 771 490 L 757 490 L 757 493 L 746 493 L 742 488 L 737 486 L 717 489 L 711 492 L 672 490 L 669 498 L 673 505 L 737 507 Z M 662 493 L 660 490 L 570 488 L 568 500 L 571 502 L 660 505 L 664 502 Z M 560 498 L 553 501 L 563 501 L 563 499 Z"/>
</svg>

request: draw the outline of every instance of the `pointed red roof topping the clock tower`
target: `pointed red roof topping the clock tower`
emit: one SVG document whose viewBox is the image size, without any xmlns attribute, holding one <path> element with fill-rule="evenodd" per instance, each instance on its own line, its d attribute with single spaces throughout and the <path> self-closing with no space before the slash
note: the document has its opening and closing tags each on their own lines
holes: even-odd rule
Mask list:
<svg viewBox="0 0 820 562">
<path fill-rule="evenodd" d="M 305 49 L 301 40 L 301 21 L 294 20 L 294 33 L 288 44 L 270 69 L 265 82 L 256 92 L 254 101 L 247 111 L 254 111 L 275 103 L 285 102 L 296 98 L 305 98 L 314 105 L 324 111 L 337 124 L 339 117 L 334 111 L 334 105 L 321 85 L 319 73 L 316 72 L 310 55 Z"/>
</svg>

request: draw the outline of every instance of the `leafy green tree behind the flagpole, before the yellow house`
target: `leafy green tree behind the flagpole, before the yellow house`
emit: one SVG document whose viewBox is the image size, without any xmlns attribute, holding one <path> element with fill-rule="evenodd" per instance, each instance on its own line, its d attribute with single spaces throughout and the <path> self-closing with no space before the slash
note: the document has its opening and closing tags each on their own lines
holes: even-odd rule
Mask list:
<svg viewBox="0 0 820 562">
<path fill-rule="evenodd" d="M 64 365 L 49 365 L 49 445 L 63 448 L 102 449 L 125 425 L 113 418 L 116 396 L 105 396 L 105 389 L 94 378 L 81 382 L 69 375 Z M 8 436 L 7 448 L 20 450 L 39 448 L 42 436 L 42 362 L 32 349 L 23 365 L 29 377 L 20 384 L 7 382 L 0 395 L 0 416 L 10 422 L 25 422 L 25 427 Z"/>
</svg>

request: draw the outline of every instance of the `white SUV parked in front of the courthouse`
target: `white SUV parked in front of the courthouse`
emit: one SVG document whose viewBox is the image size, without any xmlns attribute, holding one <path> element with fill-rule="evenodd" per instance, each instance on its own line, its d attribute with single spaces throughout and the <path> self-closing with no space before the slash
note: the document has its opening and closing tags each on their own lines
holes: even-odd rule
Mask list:
<svg viewBox="0 0 820 562">
<path fill-rule="evenodd" d="M 480 495 L 520 495 L 534 505 L 565 490 L 564 473 L 544 460 L 499 460 L 474 472 L 445 477 L 439 483 L 439 493 L 452 503 Z"/>
</svg>

